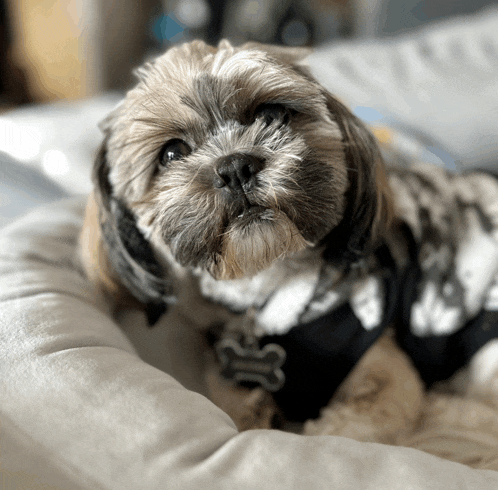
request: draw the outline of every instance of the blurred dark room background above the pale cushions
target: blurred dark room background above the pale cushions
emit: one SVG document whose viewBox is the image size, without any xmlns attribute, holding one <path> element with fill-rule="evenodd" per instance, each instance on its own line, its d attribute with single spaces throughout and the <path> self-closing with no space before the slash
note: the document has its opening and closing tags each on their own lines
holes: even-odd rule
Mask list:
<svg viewBox="0 0 498 490">
<path fill-rule="evenodd" d="M 0 110 L 125 89 L 172 43 L 385 37 L 489 0 L 0 0 Z"/>
</svg>

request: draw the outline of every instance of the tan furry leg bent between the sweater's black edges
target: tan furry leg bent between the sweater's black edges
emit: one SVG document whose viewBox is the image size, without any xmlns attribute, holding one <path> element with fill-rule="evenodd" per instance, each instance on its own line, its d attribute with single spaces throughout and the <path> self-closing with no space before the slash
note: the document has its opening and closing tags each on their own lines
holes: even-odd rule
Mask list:
<svg viewBox="0 0 498 490">
<path fill-rule="evenodd" d="M 320 418 L 306 422 L 303 432 L 396 444 L 414 430 L 423 396 L 417 371 L 387 333 L 364 354 Z"/>
</svg>

